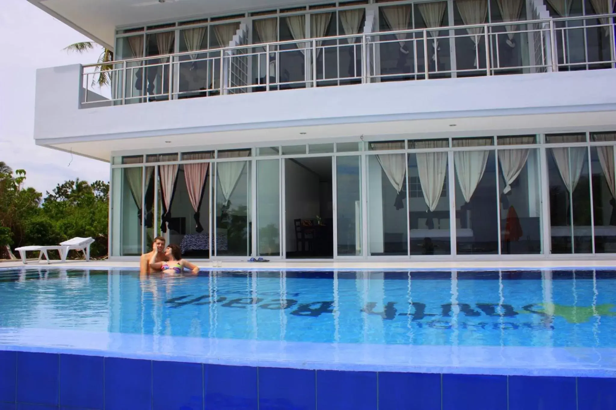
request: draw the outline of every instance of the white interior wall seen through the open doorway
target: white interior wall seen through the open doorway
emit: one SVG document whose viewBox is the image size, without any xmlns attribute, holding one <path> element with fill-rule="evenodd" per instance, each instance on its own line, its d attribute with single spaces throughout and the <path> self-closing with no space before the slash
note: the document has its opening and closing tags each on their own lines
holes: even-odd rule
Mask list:
<svg viewBox="0 0 616 410">
<path fill-rule="evenodd" d="M 315 219 L 320 215 L 318 175 L 285 159 L 286 250 L 297 249 L 294 219 Z"/>
</svg>

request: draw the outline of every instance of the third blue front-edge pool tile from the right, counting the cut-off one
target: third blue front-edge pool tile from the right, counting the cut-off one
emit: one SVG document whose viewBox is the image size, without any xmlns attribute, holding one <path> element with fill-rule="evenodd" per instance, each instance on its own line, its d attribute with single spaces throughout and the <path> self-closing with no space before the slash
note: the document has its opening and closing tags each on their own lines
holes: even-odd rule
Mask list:
<svg viewBox="0 0 616 410">
<path fill-rule="evenodd" d="M 507 376 L 443 374 L 442 395 L 443 410 L 506 410 Z"/>
</svg>

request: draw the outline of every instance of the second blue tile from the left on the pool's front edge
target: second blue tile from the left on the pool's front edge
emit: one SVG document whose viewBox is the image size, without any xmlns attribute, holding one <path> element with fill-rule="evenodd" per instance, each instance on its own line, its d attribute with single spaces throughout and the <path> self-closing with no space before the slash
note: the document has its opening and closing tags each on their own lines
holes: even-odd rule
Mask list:
<svg viewBox="0 0 616 410">
<path fill-rule="evenodd" d="M 60 356 L 17 352 L 17 401 L 57 406 Z"/>
</svg>

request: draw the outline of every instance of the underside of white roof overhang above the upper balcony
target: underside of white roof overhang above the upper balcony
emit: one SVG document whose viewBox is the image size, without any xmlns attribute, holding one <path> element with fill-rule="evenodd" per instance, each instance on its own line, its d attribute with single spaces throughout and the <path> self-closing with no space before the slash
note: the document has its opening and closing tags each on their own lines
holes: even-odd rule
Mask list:
<svg viewBox="0 0 616 410">
<path fill-rule="evenodd" d="M 79 32 L 113 48 L 115 28 L 250 10 L 322 3 L 314 0 L 28 0 Z"/>
</svg>

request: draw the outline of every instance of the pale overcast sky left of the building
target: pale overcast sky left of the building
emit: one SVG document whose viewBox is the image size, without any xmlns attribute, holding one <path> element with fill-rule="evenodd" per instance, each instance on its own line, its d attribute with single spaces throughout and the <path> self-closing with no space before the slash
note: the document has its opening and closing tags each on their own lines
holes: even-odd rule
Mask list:
<svg viewBox="0 0 616 410">
<path fill-rule="evenodd" d="M 100 51 L 67 53 L 87 41 L 26 0 L 0 0 L 0 161 L 25 169 L 26 185 L 45 193 L 67 179 L 109 180 L 109 165 L 34 144 L 36 69 L 95 63 Z M 70 166 L 68 166 L 70 164 Z"/>
</svg>

